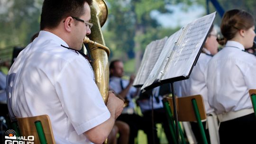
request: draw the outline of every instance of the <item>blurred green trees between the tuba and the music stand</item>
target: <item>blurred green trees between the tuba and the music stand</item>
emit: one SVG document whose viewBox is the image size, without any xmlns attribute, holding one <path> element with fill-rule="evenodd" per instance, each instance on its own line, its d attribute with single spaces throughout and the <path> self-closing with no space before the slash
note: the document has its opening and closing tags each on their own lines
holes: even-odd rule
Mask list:
<svg viewBox="0 0 256 144">
<path fill-rule="evenodd" d="M 165 9 L 164 0 L 108 0 L 107 2 L 110 14 L 104 34 L 112 36 L 106 39 L 106 44 L 115 52 L 112 57 L 127 61 L 135 54 L 138 68 L 146 45 L 164 37 L 161 35 L 163 33 L 159 33 L 161 25 L 150 16 L 150 13 L 153 10 L 161 13 L 170 11 Z"/>
</svg>

